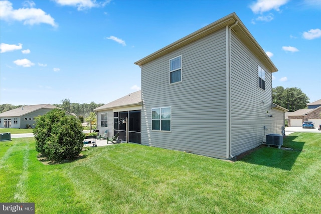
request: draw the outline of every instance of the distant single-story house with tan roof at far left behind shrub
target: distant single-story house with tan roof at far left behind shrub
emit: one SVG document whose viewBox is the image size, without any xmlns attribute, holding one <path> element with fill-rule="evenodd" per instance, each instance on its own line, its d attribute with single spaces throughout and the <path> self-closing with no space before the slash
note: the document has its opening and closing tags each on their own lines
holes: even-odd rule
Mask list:
<svg viewBox="0 0 321 214">
<path fill-rule="evenodd" d="M 35 118 L 58 108 L 50 104 L 30 105 L 6 111 L 0 114 L 1 128 L 26 128 L 36 126 Z M 68 112 L 67 112 L 68 113 Z M 70 114 L 70 113 L 68 113 Z"/>
</svg>

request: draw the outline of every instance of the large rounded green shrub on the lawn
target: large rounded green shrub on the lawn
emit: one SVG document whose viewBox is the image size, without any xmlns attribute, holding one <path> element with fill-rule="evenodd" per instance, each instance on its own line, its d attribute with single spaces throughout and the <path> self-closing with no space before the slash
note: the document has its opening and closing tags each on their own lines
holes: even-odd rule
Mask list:
<svg viewBox="0 0 321 214">
<path fill-rule="evenodd" d="M 85 134 L 80 121 L 66 115 L 62 109 L 54 109 L 38 117 L 34 129 L 36 150 L 51 160 L 74 158 L 83 148 Z"/>
</svg>

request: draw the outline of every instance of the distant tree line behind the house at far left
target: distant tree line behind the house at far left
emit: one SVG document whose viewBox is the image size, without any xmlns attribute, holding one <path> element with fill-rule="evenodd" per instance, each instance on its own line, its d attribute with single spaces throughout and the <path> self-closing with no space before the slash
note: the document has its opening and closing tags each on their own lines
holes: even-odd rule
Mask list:
<svg viewBox="0 0 321 214">
<path fill-rule="evenodd" d="M 91 112 L 95 108 L 98 108 L 99 106 L 104 105 L 103 103 L 96 104 L 95 102 L 88 103 L 71 103 L 69 99 L 63 99 L 61 100 L 61 104 L 53 104 L 54 106 L 57 106 L 59 108 L 64 109 L 65 111 L 68 111 L 69 113 L 74 113 L 78 117 L 82 116 L 84 118 L 88 117 Z M 20 108 L 22 106 L 26 105 L 12 105 L 12 104 L 2 104 L 0 105 L 0 113 L 10 111 L 12 109 Z"/>
</svg>

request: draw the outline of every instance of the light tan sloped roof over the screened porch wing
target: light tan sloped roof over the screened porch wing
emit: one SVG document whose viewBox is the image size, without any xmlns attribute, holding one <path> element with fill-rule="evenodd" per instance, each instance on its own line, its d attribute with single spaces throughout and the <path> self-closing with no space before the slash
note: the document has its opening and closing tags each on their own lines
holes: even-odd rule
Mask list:
<svg viewBox="0 0 321 214">
<path fill-rule="evenodd" d="M 103 106 L 95 108 L 94 111 L 101 111 L 105 109 L 112 109 L 115 107 L 123 107 L 123 106 L 132 106 L 132 105 L 141 105 L 141 90 L 128 94 L 124 97 L 121 97 L 117 100 L 114 100 L 110 103 L 107 103 Z"/>
</svg>

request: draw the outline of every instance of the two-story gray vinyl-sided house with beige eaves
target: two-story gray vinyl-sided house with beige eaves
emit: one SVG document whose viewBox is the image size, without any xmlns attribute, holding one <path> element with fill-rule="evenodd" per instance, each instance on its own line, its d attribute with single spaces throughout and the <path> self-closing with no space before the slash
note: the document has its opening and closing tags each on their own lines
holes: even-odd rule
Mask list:
<svg viewBox="0 0 321 214">
<path fill-rule="evenodd" d="M 283 133 L 288 110 L 272 103 L 277 68 L 235 13 L 135 64 L 142 106 L 128 108 L 141 113 L 143 145 L 230 159 Z M 109 129 L 127 106 L 108 105 L 96 110 Z"/>
</svg>

